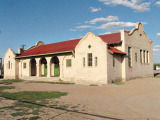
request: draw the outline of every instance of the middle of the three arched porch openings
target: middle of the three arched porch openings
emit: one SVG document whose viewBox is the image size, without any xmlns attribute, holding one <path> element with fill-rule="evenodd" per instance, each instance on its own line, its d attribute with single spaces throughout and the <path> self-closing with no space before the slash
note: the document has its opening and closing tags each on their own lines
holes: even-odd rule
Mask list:
<svg viewBox="0 0 160 120">
<path fill-rule="evenodd" d="M 45 58 L 40 60 L 40 75 L 47 76 L 47 60 Z"/>
</svg>

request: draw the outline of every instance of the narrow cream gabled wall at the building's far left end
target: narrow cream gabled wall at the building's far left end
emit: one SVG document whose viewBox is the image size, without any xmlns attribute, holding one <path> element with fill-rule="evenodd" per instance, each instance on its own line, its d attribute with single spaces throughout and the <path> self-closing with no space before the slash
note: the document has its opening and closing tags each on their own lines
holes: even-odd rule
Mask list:
<svg viewBox="0 0 160 120">
<path fill-rule="evenodd" d="M 15 53 L 8 49 L 4 56 L 4 79 L 16 79 L 16 60 Z M 10 65 L 9 65 L 10 61 Z M 10 68 L 9 68 L 10 66 Z"/>
</svg>

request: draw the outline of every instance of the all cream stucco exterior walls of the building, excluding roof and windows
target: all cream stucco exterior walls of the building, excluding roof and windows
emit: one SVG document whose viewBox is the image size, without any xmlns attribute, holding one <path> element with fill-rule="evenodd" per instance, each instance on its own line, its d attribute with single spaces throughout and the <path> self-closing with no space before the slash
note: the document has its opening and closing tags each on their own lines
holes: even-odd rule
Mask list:
<svg viewBox="0 0 160 120">
<path fill-rule="evenodd" d="M 142 24 L 137 23 L 136 28 L 130 31 L 130 33 L 121 30 L 121 41 L 122 43 L 114 45 L 114 47 L 125 52 L 126 56 L 109 53 L 107 44 L 101 38 L 93 33 L 87 33 L 79 41 L 73 53 L 57 55 L 60 71 L 59 79 L 77 84 L 101 85 L 113 81 L 126 81 L 138 77 L 153 76 L 153 46 L 144 32 Z M 131 67 L 128 65 L 128 47 L 131 47 Z M 149 63 L 140 62 L 140 50 L 149 52 Z M 88 65 L 88 53 L 92 53 L 92 66 Z M 135 60 L 135 53 L 137 53 L 137 61 Z M 113 66 L 113 56 L 115 57 L 115 67 Z M 142 56 L 144 55 L 142 54 Z M 4 79 L 30 78 L 30 60 L 32 58 L 15 60 L 15 57 L 15 53 L 8 49 L 4 56 Z M 47 61 L 47 76 L 45 78 L 51 78 L 50 80 L 54 81 L 54 64 L 51 63 L 51 60 L 55 55 L 35 58 L 36 76 L 33 79 L 39 79 L 43 75 L 42 73 L 44 73 L 44 69 L 41 69 L 44 66 L 40 64 L 40 60 L 43 57 Z M 97 66 L 95 57 L 98 58 Z M 84 58 L 85 61 L 83 61 Z M 72 65 L 70 67 L 66 66 L 67 59 L 71 59 Z M 10 69 L 8 61 L 10 61 Z M 24 68 L 24 63 L 26 68 Z"/>
</svg>

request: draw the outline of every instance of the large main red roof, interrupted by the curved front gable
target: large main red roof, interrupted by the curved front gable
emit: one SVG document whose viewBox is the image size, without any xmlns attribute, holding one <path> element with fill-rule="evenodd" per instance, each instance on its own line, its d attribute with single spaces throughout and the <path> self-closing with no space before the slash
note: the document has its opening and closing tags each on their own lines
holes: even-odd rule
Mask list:
<svg viewBox="0 0 160 120">
<path fill-rule="evenodd" d="M 106 34 L 99 36 L 107 44 L 115 44 L 121 42 L 120 33 Z M 35 56 L 43 54 L 51 54 L 65 51 L 72 51 L 81 39 L 69 40 L 64 42 L 41 45 L 23 52 L 17 57 Z"/>
</svg>

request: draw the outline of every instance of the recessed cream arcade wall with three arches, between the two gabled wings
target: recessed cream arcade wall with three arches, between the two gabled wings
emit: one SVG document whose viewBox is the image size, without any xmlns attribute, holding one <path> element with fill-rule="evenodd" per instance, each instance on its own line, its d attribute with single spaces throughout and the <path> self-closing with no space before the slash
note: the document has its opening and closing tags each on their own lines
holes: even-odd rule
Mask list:
<svg viewBox="0 0 160 120">
<path fill-rule="evenodd" d="M 51 59 L 54 56 L 49 56 L 45 57 L 47 60 L 47 76 L 48 78 L 53 78 L 54 77 L 54 64 L 51 63 Z M 60 55 L 57 56 L 59 59 L 59 65 L 60 65 L 60 79 L 63 81 L 72 81 L 74 82 L 75 80 L 75 63 L 74 63 L 74 57 L 73 55 Z M 32 79 L 37 79 L 38 77 L 41 77 L 41 75 L 44 75 L 44 64 L 40 65 L 40 60 L 43 57 L 36 58 L 36 70 L 37 70 L 37 76 L 34 76 Z M 19 78 L 20 79 L 26 79 L 31 77 L 31 63 L 30 60 L 32 58 L 28 59 L 21 59 L 19 60 Z M 71 67 L 66 67 L 66 59 L 71 59 L 72 61 L 72 66 Z M 24 63 L 26 63 L 26 68 L 24 68 Z M 39 73 L 38 73 L 39 71 Z M 45 77 L 43 77 L 45 78 Z M 51 80 L 51 79 L 49 79 Z M 54 79 L 53 79 L 54 81 Z"/>
</svg>

